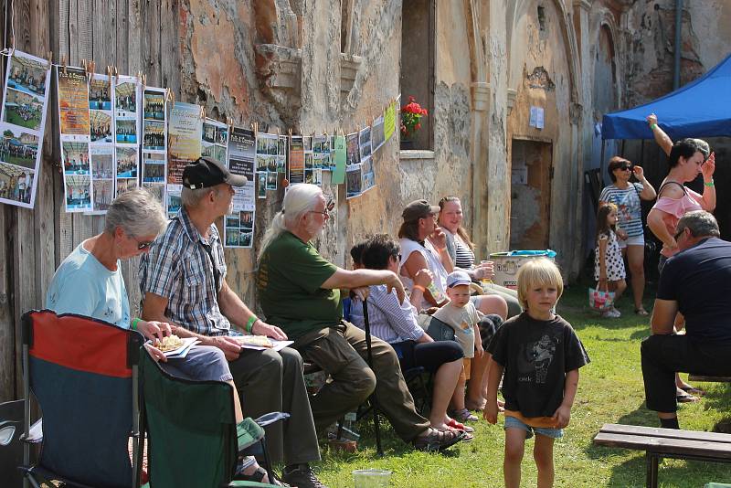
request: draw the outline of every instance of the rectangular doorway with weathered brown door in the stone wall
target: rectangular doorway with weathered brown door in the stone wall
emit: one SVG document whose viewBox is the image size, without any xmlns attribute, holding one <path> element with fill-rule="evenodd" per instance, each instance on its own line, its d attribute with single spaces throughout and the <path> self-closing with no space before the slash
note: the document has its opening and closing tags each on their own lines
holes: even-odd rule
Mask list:
<svg viewBox="0 0 731 488">
<path fill-rule="evenodd" d="M 551 227 L 553 144 L 513 139 L 510 249 L 547 249 Z"/>
</svg>

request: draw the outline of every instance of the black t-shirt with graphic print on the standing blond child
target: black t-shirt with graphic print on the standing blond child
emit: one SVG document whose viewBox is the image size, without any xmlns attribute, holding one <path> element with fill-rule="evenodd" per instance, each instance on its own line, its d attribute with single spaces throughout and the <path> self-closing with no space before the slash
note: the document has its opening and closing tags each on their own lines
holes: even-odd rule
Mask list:
<svg viewBox="0 0 731 488">
<path fill-rule="evenodd" d="M 504 367 L 505 409 L 524 417 L 551 417 L 564 400 L 566 373 L 589 358 L 577 334 L 560 316 L 539 321 L 524 312 L 498 329 L 488 347 Z"/>
</svg>

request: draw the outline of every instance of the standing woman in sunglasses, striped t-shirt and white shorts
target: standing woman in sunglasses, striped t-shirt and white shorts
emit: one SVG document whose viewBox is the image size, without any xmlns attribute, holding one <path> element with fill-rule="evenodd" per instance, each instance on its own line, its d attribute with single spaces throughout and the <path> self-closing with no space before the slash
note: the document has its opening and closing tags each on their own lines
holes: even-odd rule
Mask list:
<svg viewBox="0 0 731 488">
<path fill-rule="evenodd" d="M 645 236 L 642 229 L 641 200 L 654 199 L 655 189 L 645 178 L 642 167 L 623 157 L 614 156 L 609 159 L 607 170 L 612 184 L 601 190 L 599 207 L 608 203 L 617 206 L 617 240 L 622 256 L 626 256 L 630 264 L 634 312 L 647 315 L 642 305 L 642 293 L 645 289 Z M 630 182 L 632 175 L 639 183 Z"/>
</svg>

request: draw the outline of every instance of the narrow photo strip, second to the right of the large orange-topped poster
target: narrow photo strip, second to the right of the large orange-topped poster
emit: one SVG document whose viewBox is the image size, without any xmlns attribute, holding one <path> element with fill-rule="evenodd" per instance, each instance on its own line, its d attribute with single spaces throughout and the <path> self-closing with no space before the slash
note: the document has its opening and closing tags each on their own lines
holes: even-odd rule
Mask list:
<svg viewBox="0 0 731 488">
<path fill-rule="evenodd" d="M 116 196 L 137 187 L 140 174 L 140 83 L 132 76 L 114 81 L 114 143 L 116 159 Z"/>
</svg>

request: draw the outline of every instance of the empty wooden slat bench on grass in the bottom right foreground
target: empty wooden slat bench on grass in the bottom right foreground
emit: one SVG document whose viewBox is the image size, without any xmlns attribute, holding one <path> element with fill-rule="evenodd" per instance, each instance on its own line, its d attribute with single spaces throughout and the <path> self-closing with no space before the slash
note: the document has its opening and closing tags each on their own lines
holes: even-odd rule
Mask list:
<svg viewBox="0 0 731 488">
<path fill-rule="evenodd" d="M 731 462 L 731 434 L 604 424 L 594 438 L 599 446 L 645 451 L 646 486 L 657 487 L 657 465 L 662 458 Z"/>
</svg>

